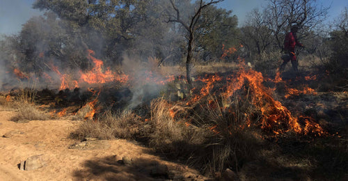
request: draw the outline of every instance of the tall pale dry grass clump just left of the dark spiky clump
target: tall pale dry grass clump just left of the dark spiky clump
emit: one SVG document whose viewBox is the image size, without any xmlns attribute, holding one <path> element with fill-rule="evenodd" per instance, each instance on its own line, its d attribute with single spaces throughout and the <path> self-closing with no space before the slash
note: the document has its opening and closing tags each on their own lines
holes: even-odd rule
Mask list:
<svg viewBox="0 0 348 181">
<path fill-rule="evenodd" d="M 149 145 L 168 157 L 189 157 L 205 141 L 207 132 L 184 119 L 175 120 L 175 113 L 185 112 L 180 106 L 168 104 L 164 99 L 151 102 Z"/>
</svg>

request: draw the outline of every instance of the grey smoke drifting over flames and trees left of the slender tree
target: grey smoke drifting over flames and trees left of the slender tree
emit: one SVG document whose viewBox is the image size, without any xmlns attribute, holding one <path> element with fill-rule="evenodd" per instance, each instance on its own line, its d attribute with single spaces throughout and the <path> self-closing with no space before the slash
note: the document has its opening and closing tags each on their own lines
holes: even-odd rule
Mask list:
<svg viewBox="0 0 348 181">
<path fill-rule="evenodd" d="M 11 46 L 10 52 L 0 51 L 1 57 L 6 57 L 6 61 L 0 59 L 3 65 L 0 67 L 1 89 L 8 90 L 22 83 L 30 84 L 31 81 L 35 81 L 36 88 L 56 90 L 71 90 L 75 82 L 79 83 L 79 88 L 102 87 L 102 84 L 80 82 L 81 74 L 93 70 L 95 66 L 88 58 L 87 50 L 92 49 L 95 52 L 93 56 L 104 63 L 102 71 L 110 70 L 112 74 L 118 74 L 117 70 L 121 70 L 122 74 L 129 76 L 125 86 L 132 94 L 125 92 L 132 98 L 127 100 L 127 109 L 150 103 L 160 95 L 168 79 L 159 71 L 159 63 L 180 61 L 182 49 L 178 47 L 178 42 L 184 41 L 182 32 L 165 21 L 168 17 L 161 17 L 155 8 L 153 10 L 149 8 L 146 11 L 148 19 L 145 22 L 134 22 L 130 30 L 136 31 L 134 34 L 137 36 L 129 41 L 115 37 L 109 40 L 109 35 L 102 34 L 106 30 L 98 32 L 91 25 L 77 28 L 76 24 L 70 24 L 51 11 L 24 20 L 22 31 L 13 36 L 15 45 Z M 119 60 L 122 60 L 121 68 Z M 29 78 L 14 74 L 14 68 Z M 111 81 L 110 84 L 119 83 Z"/>
</svg>

